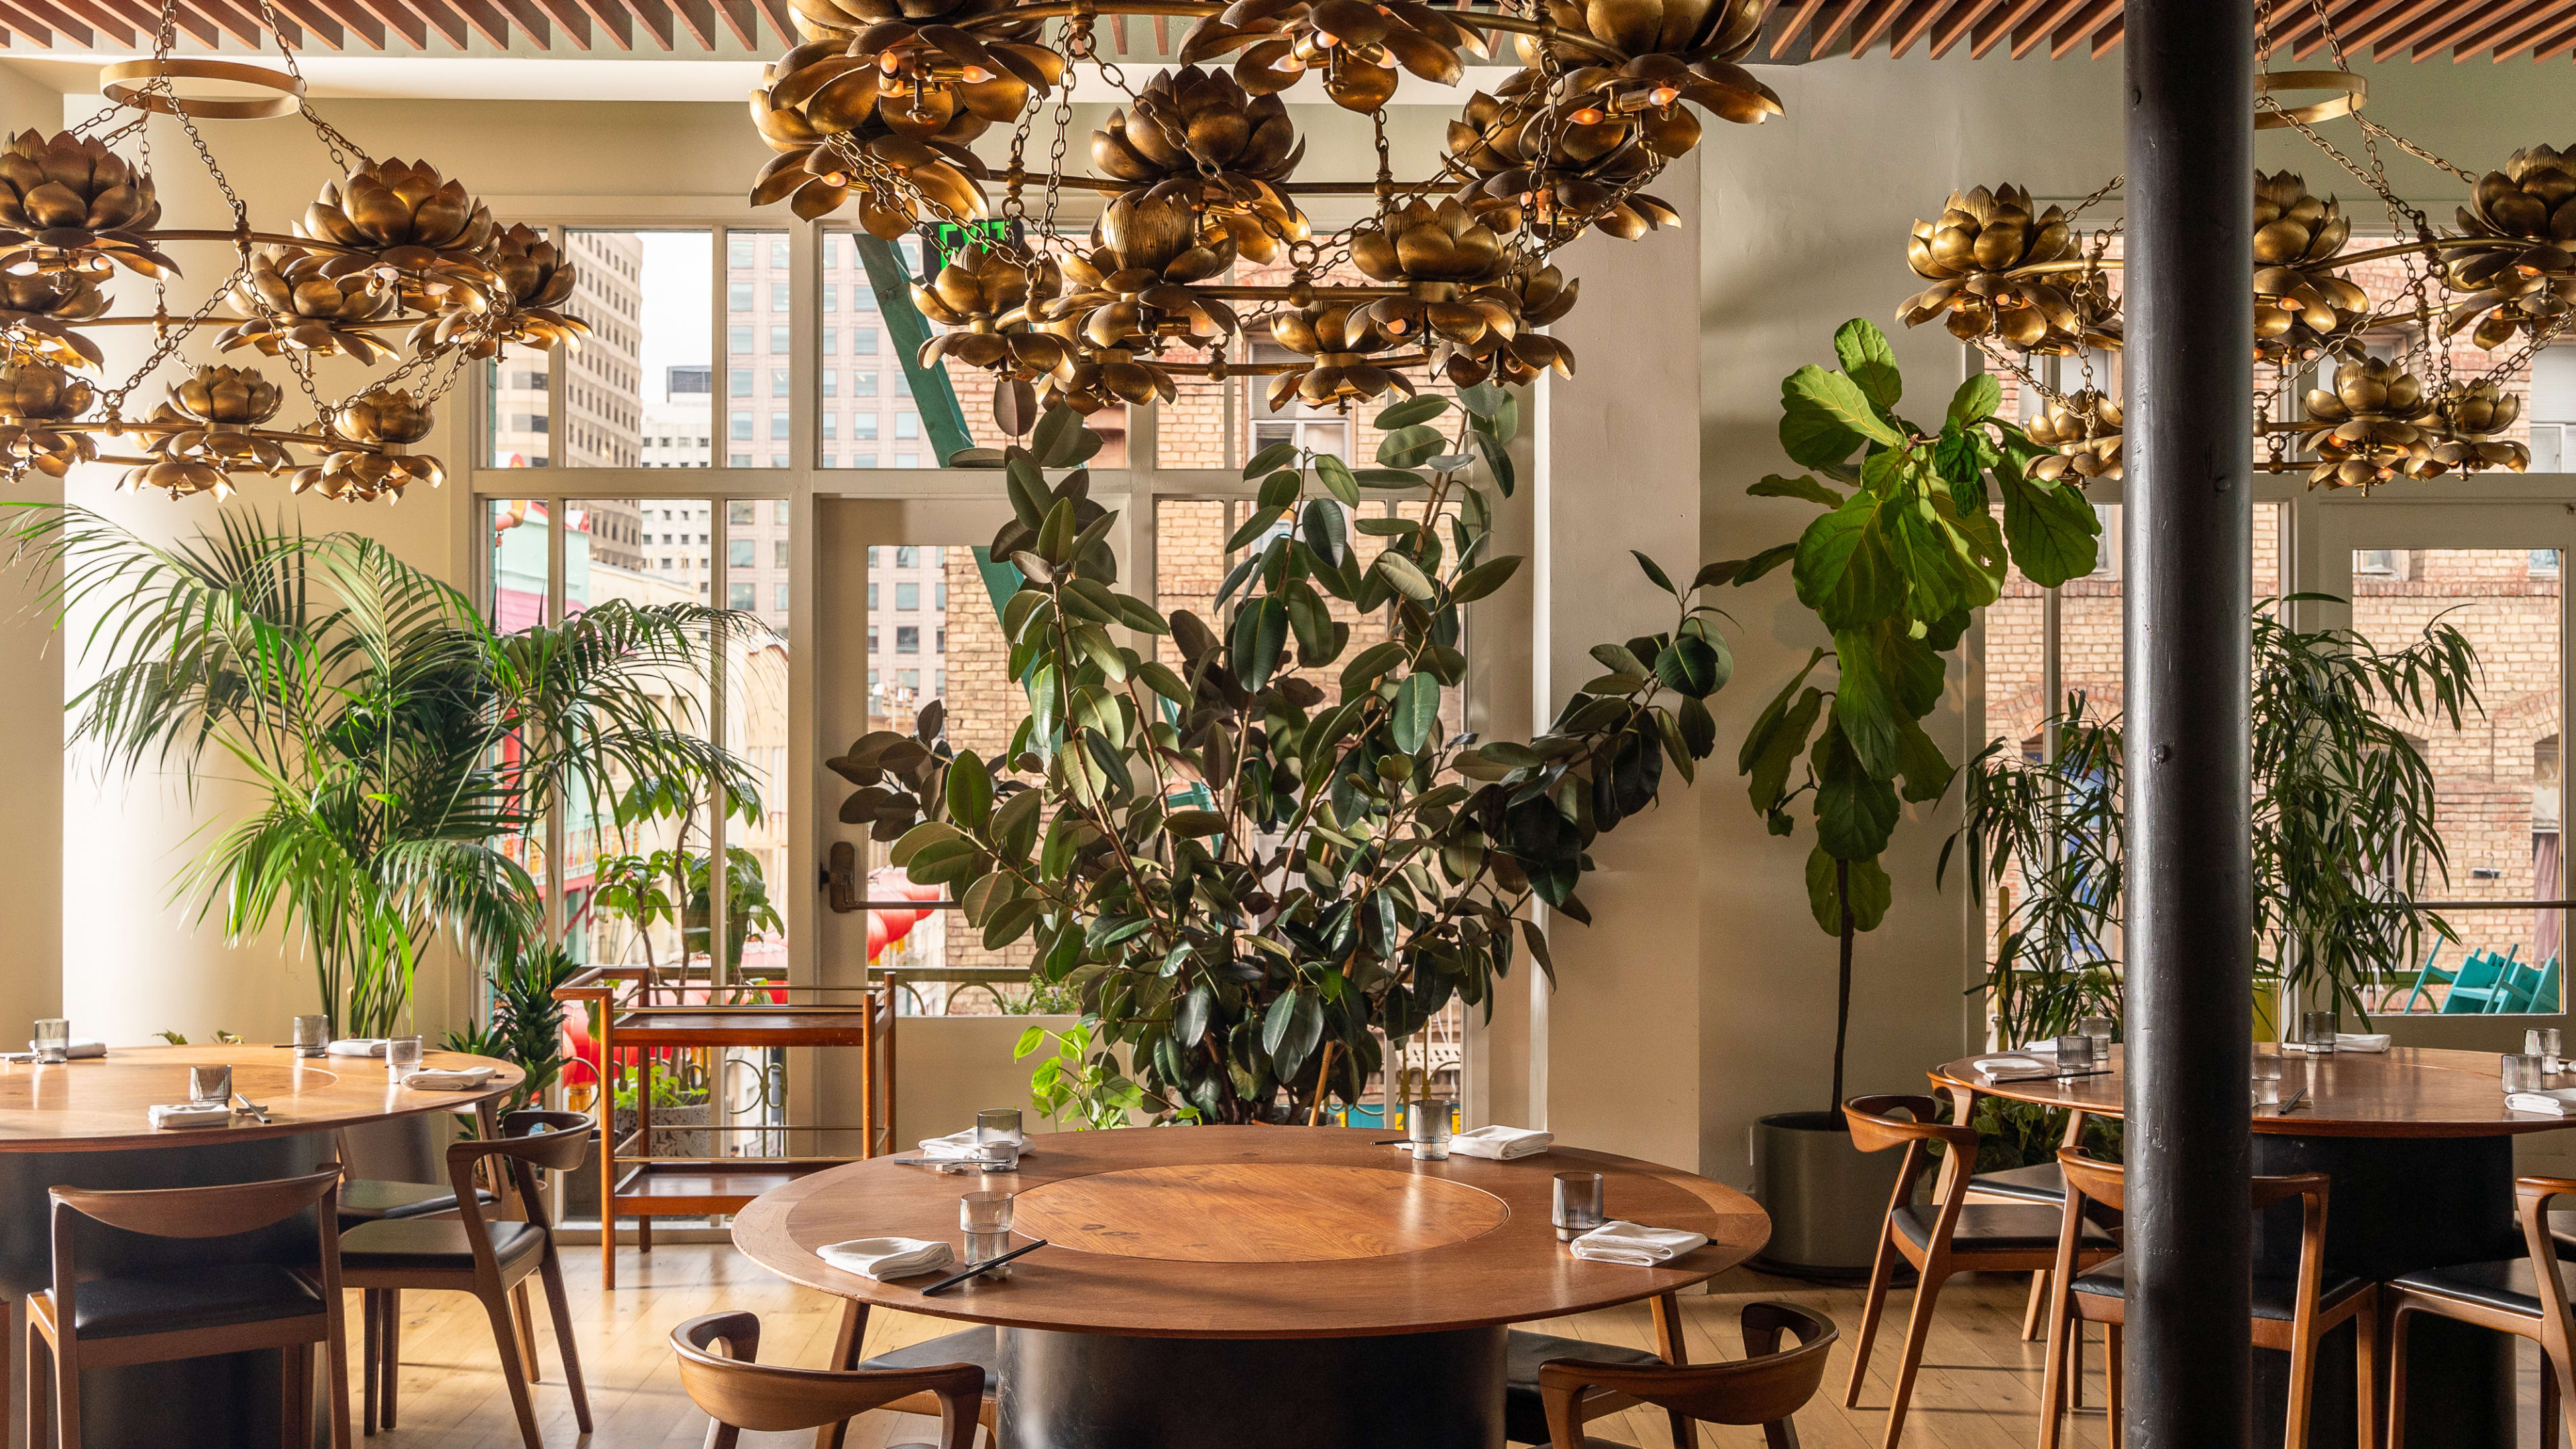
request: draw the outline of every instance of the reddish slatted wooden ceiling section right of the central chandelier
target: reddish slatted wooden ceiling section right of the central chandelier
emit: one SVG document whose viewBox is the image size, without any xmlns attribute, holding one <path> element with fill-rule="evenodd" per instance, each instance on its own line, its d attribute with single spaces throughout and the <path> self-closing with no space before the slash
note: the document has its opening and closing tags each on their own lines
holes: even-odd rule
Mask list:
<svg viewBox="0 0 2576 1449">
<path fill-rule="evenodd" d="M 59 0 L 70 3 L 70 0 Z M 2105 57 L 2123 0 L 1772 0 L 1752 59 Z M 2318 59 L 2334 21 L 2349 59 L 2558 59 L 2576 52 L 2576 0 L 2272 0 L 2275 59 Z"/>
</svg>

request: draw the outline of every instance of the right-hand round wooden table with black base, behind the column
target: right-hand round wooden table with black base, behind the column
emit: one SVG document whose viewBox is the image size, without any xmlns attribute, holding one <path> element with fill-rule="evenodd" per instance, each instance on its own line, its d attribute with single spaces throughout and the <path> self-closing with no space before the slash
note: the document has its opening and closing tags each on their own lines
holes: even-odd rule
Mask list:
<svg viewBox="0 0 2576 1449">
<path fill-rule="evenodd" d="M 2275 1055 L 2272 1044 L 2257 1047 Z M 1989 1057 L 2004 1052 L 1989 1052 Z M 2040 1057 L 2045 1060 L 2045 1057 Z M 1945 1062 L 1935 1083 L 1960 1101 L 2002 1096 L 2089 1116 L 2128 1111 L 2125 1052 L 2110 1073 L 2048 1080 L 1986 1080 L 1978 1057 Z M 2280 1096 L 2295 1111 L 2254 1111 L 2254 1173 L 2326 1173 L 2326 1266 L 2370 1281 L 2416 1269 L 2524 1256 L 2514 1227 L 2514 1137 L 2576 1124 L 2504 1106 L 2491 1052 L 2391 1047 L 2388 1052 L 2282 1055 Z M 2576 1085 L 2576 1075 L 2561 1078 Z M 2254 1271 L 2298 1271 L 2298 1201 L 2254 1220 Z M 2336 1328 L 2316 1359 L 2308 1444 L 2354 1441 L 2352 1328 Z M 2419 1315 L 2406 1336 L 2406 1426 L 2419 1444 L 2486 1449 L 2514 1444 L 2514 1341 Z M 2287 1354 L 2254 1354 L 2257 1441 L 2280 1441 L 2290 1395 Z M 2269 1428 L 2264 1428 L 2269 1426 Z"/>
</svg>

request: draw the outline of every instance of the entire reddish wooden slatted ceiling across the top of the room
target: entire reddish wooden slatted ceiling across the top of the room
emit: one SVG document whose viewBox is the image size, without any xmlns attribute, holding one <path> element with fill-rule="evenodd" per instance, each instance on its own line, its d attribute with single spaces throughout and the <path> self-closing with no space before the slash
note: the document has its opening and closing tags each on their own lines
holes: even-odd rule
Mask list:
<svg viewBox="0 0 2576 1449">
<path fill-rule="evenodd" d="M 1455 5 L 1458 0 L 1440 0 Z M 1489 0 L 1479 0 L 1489 3 Z M 2275 59 L 2326 49 L 2318 8 L 2352 59 L 2561 59 L 2576 52 L 2576 0 L 2264 0 Z M 474 44 L 526 54 L 714 52 L 778 54 L 796 44 L 788 0 L 268 0 L 289 44 L 317 52 L 425 52 Z M 2120 46 L 2123 0 L 1772 0 L 1752 59 L 1826 57 L 2105 57 Z M 144 49 L 157 0 L 0 0 L 13 49 Z M 180 0 L 180 34 L 201 46 L 260 46 L 260 0 Z M 1157 15 L 1154 49 L 1172 28 Z M 1133 36 L 1144 41 L 1144 36 Z"/>
</svg>

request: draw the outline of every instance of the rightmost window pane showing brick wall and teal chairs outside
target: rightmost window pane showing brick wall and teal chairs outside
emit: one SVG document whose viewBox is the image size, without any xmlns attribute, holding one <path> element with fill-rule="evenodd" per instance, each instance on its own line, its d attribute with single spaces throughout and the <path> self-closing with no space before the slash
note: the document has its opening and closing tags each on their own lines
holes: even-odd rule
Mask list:
<svg viewBox="0 0 2576 1449">
<path fill-rule="evenodd" d="M 2352 554 L 2352 627 L 2383 650 L 2427 624 L 2460 629 L 2478 655 L 2478 701 L 2447 719 L 2388 712 L 2432 766 L 2447 879 L 2434 900 L 2563 900 L 2561 673 L 2555 549 L 2367 549 Z M 2532 905 L 2442 910 L 2460 941 L 2424 941 L 2388 1011 L 2558 1011 L 2563 913 Z"/>
</svg>

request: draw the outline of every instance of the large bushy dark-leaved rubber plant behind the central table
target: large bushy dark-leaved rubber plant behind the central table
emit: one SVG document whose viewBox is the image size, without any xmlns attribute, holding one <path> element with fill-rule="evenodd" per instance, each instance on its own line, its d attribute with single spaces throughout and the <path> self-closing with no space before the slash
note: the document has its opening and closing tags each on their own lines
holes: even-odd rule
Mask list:
<svg viewBox="0 0 2576 1449">
<path fill-rule="evenodd" d="M 1713 606 L 1643 554 L 1667 629 L 1595 647 L 1605 673 L 1535 740 L 1463 732 L 1443 691 L 1466 678 L 1466 611 L 1520 570 L 1492 552 L 1517 405 L 1471 387 L 1376 423 L 1378 467 L 1291 443 L 1249 462 L 1239 562 L 1200 619 L 1115 588 L 1115 516 L 1082 469 L 1048 482 L 1097 438 L 1048 413 L 1007 449 L 1015 518 L 992 544 L 1023 572 L 1007 758 L 889 730 L 835 761 L 860 786 L 845 817 L 951 887 L 984 946 L 1033 938 L 1036 980 L 1082 1003 L 1090 1065 L 1128 1062 L 1087 1096 L 1203 1122 L 1355 1101 L 1373 1029 L 1489 1006 L 1522 954 L 1553 980 L 1533 908 L 1587 923 L 1592 841 L 1716 748 Z M 1406 503 L 1355 518 L 1370 492 Z M 1352 647 L 1370 616 L 1386 637 Z"/>
</svg>

